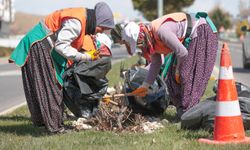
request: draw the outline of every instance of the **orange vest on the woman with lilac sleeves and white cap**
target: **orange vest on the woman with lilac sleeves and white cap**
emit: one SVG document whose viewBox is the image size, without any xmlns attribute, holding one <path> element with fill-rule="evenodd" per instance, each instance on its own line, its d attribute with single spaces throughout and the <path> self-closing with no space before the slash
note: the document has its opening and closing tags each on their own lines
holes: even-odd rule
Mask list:
<svg viewBox="0 0 250 150">
<path fill-rule="evenodd" d="M 178 22 L 178 21 L 183 21 L 183 20 L 186 20 L 186 19 L 187 19 L 186 14 L 182 13 L 182 12 L 179 12 L 179 13 L 171 13 L 171 14 L 162 16 L 162 17 L 160 17 L 160 18 L 158 18 L 156 20 L 153 20 L 151 22 L 151 24 L 152 24 L 152 33 L 153 33 L 153 36 L 154 36 L 154 39 L 155 39 L 154 50 L 155 50 L 156 53 L 167 55 L 170 52 L 172 52 L 172 50 L 170 48 L 168 48 L 167 45 L 165 45 L 161 41 L 161 39 L 159 38 L 159 36 L 157 34 L 157 31 L 160 28 L 160 26 L 166 21 Z M 179 40 L 182 41 L 183 38 L 181 38 Z"/>
</svg>

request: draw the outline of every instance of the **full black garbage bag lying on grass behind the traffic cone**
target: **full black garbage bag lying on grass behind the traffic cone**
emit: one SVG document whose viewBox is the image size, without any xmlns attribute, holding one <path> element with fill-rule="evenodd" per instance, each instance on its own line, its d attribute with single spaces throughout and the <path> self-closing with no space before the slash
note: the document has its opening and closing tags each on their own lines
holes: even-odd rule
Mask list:
<svg viewBox="0 0 250 150">
<path fill-rule="evenodd" d="M 250 87 L 236 82 L 241 115 L 245 130 L 250 129 Z M 217 83 L 213 88 L 217 92 Z M 181 117 L 181 128 L 183 129 L 206 129 L 212 131 L 214 128 L 214 117 L 216 109 L 216 96 L 210 97 L 185 112 Z"/>
</svg>

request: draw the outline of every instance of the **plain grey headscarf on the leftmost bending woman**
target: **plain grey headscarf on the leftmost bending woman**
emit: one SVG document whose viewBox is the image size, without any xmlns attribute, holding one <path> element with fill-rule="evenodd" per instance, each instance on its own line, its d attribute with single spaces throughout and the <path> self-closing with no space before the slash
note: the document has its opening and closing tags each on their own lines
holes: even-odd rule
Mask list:
<svg viewBox="0 0 250 150">
<path fill-rule="evenodd" d="M 95 5 L 96 26 L 113 29 L 115 27 L 113 13 L 105 2 Z"/>
</svg>

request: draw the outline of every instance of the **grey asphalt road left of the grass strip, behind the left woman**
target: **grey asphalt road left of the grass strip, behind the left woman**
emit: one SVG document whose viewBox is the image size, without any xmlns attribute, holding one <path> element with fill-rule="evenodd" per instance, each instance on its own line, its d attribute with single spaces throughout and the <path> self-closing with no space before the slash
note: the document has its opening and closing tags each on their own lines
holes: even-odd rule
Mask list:
<svg viewBox="0 0 250 150">
<path fill-rule="evenodd" d="M 129 57 L 125 47 L 117 45 L 112 48 L 112 54 L 114 63 Z M 0 63 L 0 114 L 25 102 L 20 68 L 14 64 Z"/>
</svg>

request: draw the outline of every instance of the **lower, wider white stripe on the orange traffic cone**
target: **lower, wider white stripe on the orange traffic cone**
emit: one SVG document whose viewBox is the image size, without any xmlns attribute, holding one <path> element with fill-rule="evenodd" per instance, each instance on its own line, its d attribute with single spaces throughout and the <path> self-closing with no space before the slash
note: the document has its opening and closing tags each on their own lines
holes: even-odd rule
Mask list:
<svg viewBox="0 0 250 150">
<path fill-rule="evenodd" d="M 217 101 L 215 115 L 219 117 L 240 116 L 239 101 Z"/>
</svg>

